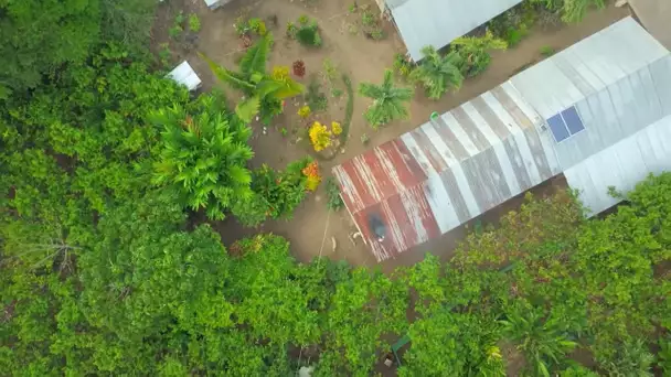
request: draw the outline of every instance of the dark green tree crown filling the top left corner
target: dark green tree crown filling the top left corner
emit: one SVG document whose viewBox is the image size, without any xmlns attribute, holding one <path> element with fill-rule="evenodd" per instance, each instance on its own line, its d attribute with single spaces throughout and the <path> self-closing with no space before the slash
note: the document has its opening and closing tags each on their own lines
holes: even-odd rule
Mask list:
<svg viewBox="0 0 671 377">
<path fill-rule="evenodd" d="M 0 98 L 86 58 L 100 33 L 98 0 L 0 1 Z"/>
</svg>

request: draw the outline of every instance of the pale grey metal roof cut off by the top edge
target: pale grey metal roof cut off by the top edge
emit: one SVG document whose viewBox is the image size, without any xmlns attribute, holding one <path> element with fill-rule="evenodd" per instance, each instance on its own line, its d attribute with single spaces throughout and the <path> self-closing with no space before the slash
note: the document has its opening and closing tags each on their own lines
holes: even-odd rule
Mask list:
<svg viewBox="0 0 671 377">
<path fill-rule="evenodd" d="M 422 49 L 440 49 L 480 26 L 522 0 L 387 0 L 386 4 L 411 57 Z"/>
</svg>

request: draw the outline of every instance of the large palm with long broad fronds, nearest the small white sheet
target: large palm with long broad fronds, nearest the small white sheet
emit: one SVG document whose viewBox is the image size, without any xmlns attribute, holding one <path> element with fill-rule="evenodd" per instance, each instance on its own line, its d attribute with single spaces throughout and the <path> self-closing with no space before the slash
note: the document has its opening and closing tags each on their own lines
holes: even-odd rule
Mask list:
<svg viewBox="0 0 671 377">
<path fill-rule="evenodd" d="M 222 82 L 242 90 L 246 98 L 237 104 L 235 112 L 246 122 L 260 112 L 264 122 L 281 112 L 281 100 L 303 91 L 302 85 L 286 75 L 268 74 L 266 61 L 270 52 L 271 35 L 266 33 L 247 52 L 239 62 L 238 72 L 230 71 L 214 63 L 205 55 L 210 69 Z M 277 71 L 277 69 L 275 69 Z M 287 69 L 288 73 L 288 69 Z"/>
</svg>

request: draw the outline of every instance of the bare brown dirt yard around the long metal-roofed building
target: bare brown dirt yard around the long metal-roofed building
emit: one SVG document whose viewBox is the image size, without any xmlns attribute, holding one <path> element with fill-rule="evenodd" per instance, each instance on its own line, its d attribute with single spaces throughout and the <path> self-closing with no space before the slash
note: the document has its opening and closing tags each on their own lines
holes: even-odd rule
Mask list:
<svg viewBox="0 0 671 377">
<path fill-rule="evenodd" d="M 253 164 L 266 163 L 273 168 L 283 168 L 287 162 L 302 158 L 310 152 L 310 146 L 306 142 L 306 126 L 308 122 L 321 120 L 330 123 L 331 120 L 343 120 L 347 90 L 344 90 L 340 74 L 349 75 L 354 90 L 356 90 L 361 82 L 380 83 L 383 69 L 392 67 L 394 54 L 405 53 L 403 43 L 388 22 L 384 24 L 386 34 L 384 40 L 373 41 L 363 35 L 361 31 L 361 7 L 364 3 L 359 2 L 360 10 L 358 12 L 350 12 L 349 8 L 352 3 L 351 0 L 234 0 L 219 10 L 211 11 L 205 7 L 203 0 L 167 0 L 159 9 L 152 35 L 153 45 L 158 51 L 157 46 L 161 43 L 169 43 L 172 52 L 171 63 L 177 65 L 177 63 L 187 58 L 203 79 L 203 90 L 211 90 L 222 86 L 215 80 L 206 64 L 198 56 L 198 52 L 204 53 L 223 66 L 234 68 L 237 65 L 237 60 L 243 54 L 241 40 L 233 26 L 235 20 L 239 15 L 265 20 L 268 30 L 273 32 L 275 37 L 273 56 L 268 66 L 291 66 L 294 61 L 302 60 L 306 63 L 307 74 L 300 82 L 307 86 L 310 75 L 317 75 L 322 84 L 321 91 L 328 97 L 328 110 L 316 114 L 309 121 L 296 115 L 297 108 L 302 105 L 302 101 L 297 99 L 296 101 L 288 101 L 285 114 L 274 119 L 267 128 L 259 123 L 252 125 L 254 137 L 251 143 L 256 152 Z M 375 10 L 372 1 L 369 7 L 371 10 Z M 187 15 L 190 13 L 199 15 L 202 30 L 198 33 L 198 39 L 193 35 L 185 37 L 188 42 L 175 42 L 168 36 L 168 30 L 180 10 Z M 286 36 L 287 22 L 296 22 L 301 14 L 307 14 L 317 20 L 323 40 L 323 45 L 320 49 L 306 49 Z M 407 121 L 391 123 L 379 131 L 373 131 L 362 117 L 363 111 L 369 106 L 369 100 L 355 95 L 354 115 L 347 146 L 344 146 L 342 153 L 336 155 L 334 159 L 320 161 L 324 179 L 330 175 L 332 166 L 420 126 L 433 111 L 445 112 L 501 84 L 529 65 L 541 61 L 543 58 L 541 47 L 550 46 L 555 51 L 561 51 L 628 14 L 629 10 L 626 8 L 616 9 L 611 7 L 588 14 L 579 24 L 564 25 L 552 30 L 533 30 L 514 49 L 494 52 L 489 69 L 473 79 L 466 80 L 458 93 L 446 95 L 443 99 L 433 101 L 425 98 L 422 90 L 417 90 L 411 106 L 412 118 Z M 277 21 L 276 24 L 275 20 Z M 342 91 L 340 97 L 331 95 L 331 86 L 323 79 L 324 58 L 329 58 L 338 69 L 333 87 Z M 370 137 L 368 144 L 361 141 L 364 133 Z M 545 193 L 548 186 L 563 186 L 562 180 L 550 182 L 548 185 L 540 186 L 535 191 Z M 501 213 L 514 208 L 519 203 L 520 201 L 516 200 L 507 203 L 502 208 L 494 208 L 484 214 L 482 220 L 486 223 L 496 222 Z M 227 219 L 214 223 L 213 227 L 220 231 L 225 245 L 262 229 L 287 237 L 291 241 L 291 249 L 296 258 L 301 261 L 308 261 L 316 256 L 328 256 L 332 259 L 347 259 L 358 266 L 376 265 L 372 254 L 362 245 L 361 239 L 353 241 L 350 238 L 350 235 L 355 231 L 355 227 L 347 209 L 336 213 L 327 209 L 323 184 L 316 194 L 310 195 L 303 202 L 290 220 L 267 222 L 259 229 L 244 229 L 234 220 Z M 383 270 L 391 270 L 398 265 L 416 262 L 429 250 L 447 257 L 466 233 L 466 227 L 455 229 L 438 240 L 423 245 L 416 250 L 404 252 L 401 258 L 384 262 L 382 268 Z M 337 245 L 334 249 L 333 243 Z"/>
</svg>

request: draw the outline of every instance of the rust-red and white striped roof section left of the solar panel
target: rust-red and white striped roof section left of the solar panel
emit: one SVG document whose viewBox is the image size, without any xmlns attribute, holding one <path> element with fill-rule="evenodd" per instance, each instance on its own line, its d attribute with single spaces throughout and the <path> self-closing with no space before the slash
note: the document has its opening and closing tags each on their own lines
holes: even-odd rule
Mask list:
<svg viewBox="0 0 671 377">
<path fill-rule="evenodd" d="M 509 83 L 333 172 L 377 260 L 439 236 L 560 173 L 543 119 Z M 387 227 L 382 243 L 371 217 Z"/>
</svg>

